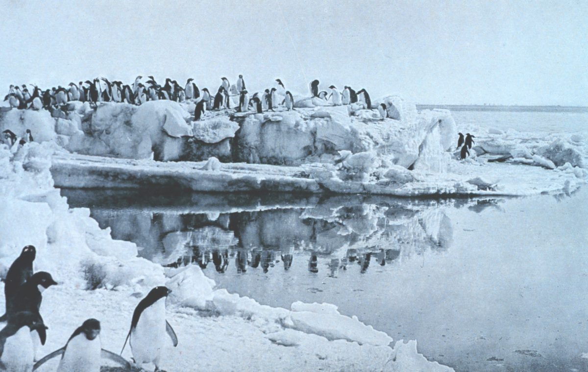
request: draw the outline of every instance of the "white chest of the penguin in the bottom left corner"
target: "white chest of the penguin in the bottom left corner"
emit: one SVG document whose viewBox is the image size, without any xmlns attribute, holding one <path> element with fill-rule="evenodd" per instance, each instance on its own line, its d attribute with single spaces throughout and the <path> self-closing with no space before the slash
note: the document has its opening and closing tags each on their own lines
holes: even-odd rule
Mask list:
<svg viewBox="0 0 588 372">
<path fill-rule="evenodd" d="M 11 372 L 31 372 L 33 370 L 34 351 L 31 331 L 22 327 L 14 336 L 6 338 L 4 351 L 0 360 Z"/>
</svg>

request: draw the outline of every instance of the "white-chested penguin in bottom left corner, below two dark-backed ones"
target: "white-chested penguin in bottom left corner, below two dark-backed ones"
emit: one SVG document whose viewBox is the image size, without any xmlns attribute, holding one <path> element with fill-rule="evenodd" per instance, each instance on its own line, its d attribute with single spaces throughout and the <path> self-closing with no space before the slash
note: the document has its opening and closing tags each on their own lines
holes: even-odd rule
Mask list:
<svg viewBox="0 0 588 372">
<path fill-rule="evenodd" d="M 35 350 L 31 333 L 46 333 L 46 330 L 41 317 L 28 311 L 9 318 L 0 331 L 0 368 L 12 372 L 32 371 Z"/>
</svg>

